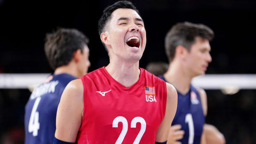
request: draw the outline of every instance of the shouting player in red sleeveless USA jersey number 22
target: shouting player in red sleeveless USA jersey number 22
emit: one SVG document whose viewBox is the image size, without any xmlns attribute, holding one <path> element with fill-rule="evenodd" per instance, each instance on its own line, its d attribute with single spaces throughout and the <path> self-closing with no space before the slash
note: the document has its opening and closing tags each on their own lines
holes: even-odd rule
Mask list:
<svg viewBox="0 0 256 144">
<path fill-rule="evenodd" d="M 166 144 L 177 92 L 139 68 L 146 31 L 129 1 L 107 7 L 99 34 L 110 63 L 69 83 L 57 110 L 55 144 Z"/>
</svg>

